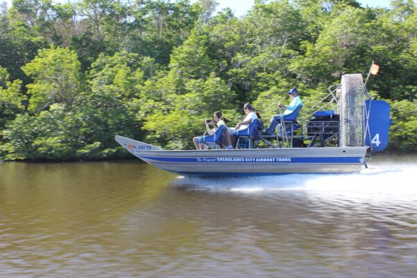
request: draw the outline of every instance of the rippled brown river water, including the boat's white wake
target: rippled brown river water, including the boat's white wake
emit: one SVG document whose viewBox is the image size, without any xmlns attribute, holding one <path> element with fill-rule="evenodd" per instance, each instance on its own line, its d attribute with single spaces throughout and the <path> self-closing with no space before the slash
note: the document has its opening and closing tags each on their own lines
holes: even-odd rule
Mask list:
<svg viewBox="0 0 417 278">
<path fill-rule="evenodd" d="M 0 163 L 0 277 L 416 277 L 416 172 L 417 156 L 245 179 Z"/>
</svg>

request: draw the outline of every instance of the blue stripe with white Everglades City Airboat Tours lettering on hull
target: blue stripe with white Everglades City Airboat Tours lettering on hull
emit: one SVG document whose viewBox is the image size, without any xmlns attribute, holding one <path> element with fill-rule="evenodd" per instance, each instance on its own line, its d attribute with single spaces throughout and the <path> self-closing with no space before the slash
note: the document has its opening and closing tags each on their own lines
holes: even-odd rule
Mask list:
<svg viewBox="0 0 417 278">
<path fill-rule="evenodd" d="M 140 156 L 153 161 L 173 163 L 361 163 L 361 156 L 334 157 L 153 157 Z"/>
</svg>

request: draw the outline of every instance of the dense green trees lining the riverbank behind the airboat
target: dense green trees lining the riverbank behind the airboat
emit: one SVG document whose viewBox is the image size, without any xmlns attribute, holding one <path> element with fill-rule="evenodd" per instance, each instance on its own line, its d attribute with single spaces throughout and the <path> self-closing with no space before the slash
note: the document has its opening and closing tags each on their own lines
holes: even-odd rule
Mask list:
<svg viewBox="0 0 417 278">
<path fill-rule="evenodd" d="M 252 102 L 268 119 L 292 87 L 309 108 L 373 61 L 381 71 L 367 88 L 392 106 L 390 148 L 416 149 L 413 0 L 260 0 L 240 18 L 215 8 L 14 0 L 0 15 L 0 159 L 129 155 L 116 134 L 186 149 L 213 111 L 234 124 Z"/>
</svg>

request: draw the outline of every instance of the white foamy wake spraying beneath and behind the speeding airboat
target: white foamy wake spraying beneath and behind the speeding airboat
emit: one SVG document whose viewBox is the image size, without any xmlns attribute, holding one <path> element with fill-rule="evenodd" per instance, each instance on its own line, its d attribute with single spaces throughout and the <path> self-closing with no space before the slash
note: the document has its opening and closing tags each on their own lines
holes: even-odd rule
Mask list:
<svg viewBox="0 0 417 278">
<path fill-rule="evenodd" d="M 377 165 L 361 174 L 286 174 L 245 178 L 179 177 L 173 186 L 212 192 L 271 193 L 290 190 L 330 195 L 404 195 L 417 198 L 417 165 Z"/>
</svg>

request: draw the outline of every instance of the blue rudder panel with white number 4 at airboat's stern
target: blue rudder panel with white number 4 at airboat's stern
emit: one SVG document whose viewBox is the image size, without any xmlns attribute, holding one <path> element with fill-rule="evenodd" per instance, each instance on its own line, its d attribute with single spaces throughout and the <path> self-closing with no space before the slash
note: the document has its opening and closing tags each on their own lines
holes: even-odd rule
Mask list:
<svg viewBox="0 0 417 278">
<path fill-rule="evenodd" d="M 392 124 L 389 118 L 391 106 L 383 100 L 367 100 L 365 105 L 369 113 L 365 145 L 370 146 L 373 152 L 382 152 L 388 145 L 389 126 Z"/>
</svg>

